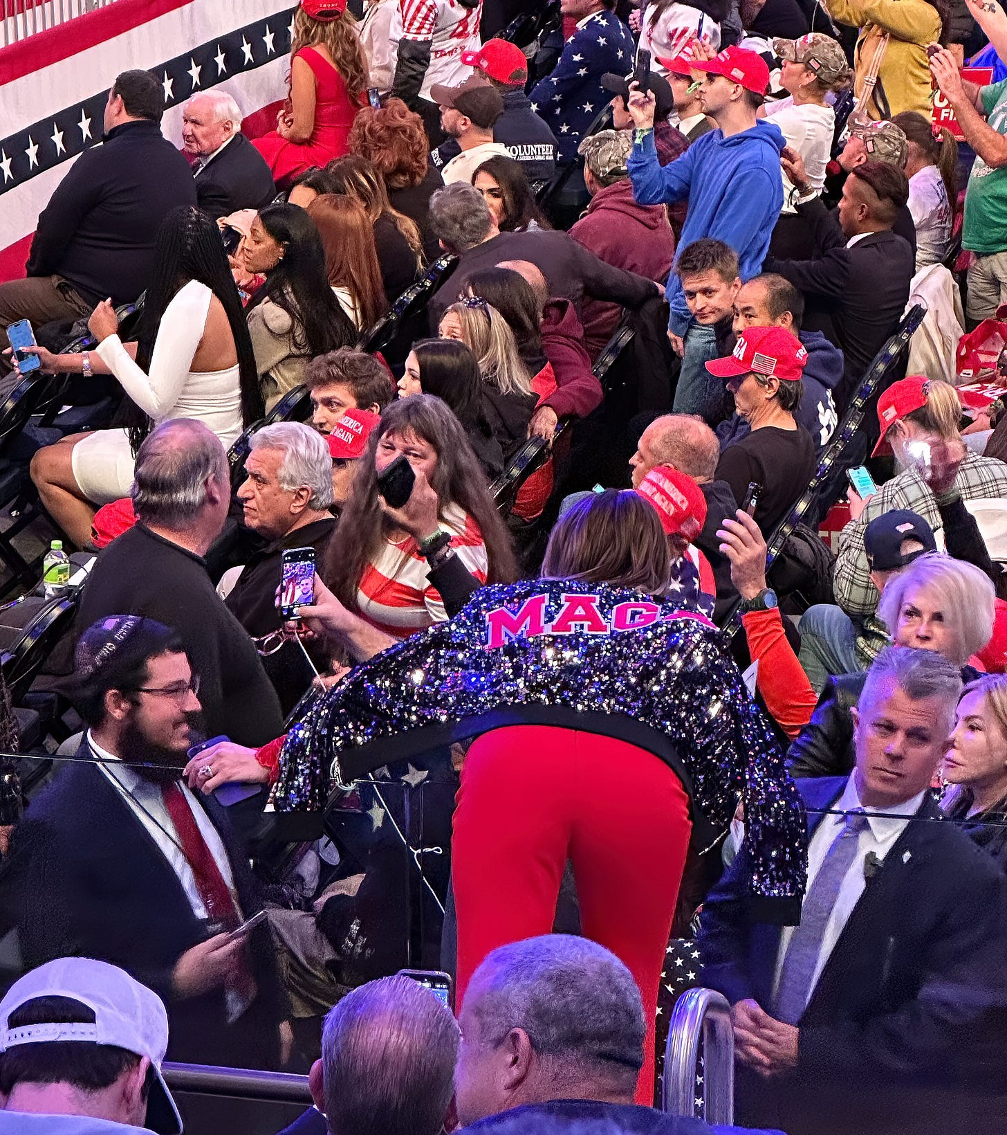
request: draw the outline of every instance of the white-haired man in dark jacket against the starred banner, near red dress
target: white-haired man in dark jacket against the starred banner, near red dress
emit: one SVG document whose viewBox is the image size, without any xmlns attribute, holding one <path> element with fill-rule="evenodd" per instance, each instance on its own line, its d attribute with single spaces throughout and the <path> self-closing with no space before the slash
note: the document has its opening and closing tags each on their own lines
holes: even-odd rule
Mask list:
<svg viewBox="0 0 1007 1135">
<path fill-rule="evenodd" d="M 193 165 L 196 201 L 214 220 L 276 196 L 269 166 L 242 134 L 242 111 L 226 91 L 201 91 L 185 104 L 181 148 Z"/>
</svg>

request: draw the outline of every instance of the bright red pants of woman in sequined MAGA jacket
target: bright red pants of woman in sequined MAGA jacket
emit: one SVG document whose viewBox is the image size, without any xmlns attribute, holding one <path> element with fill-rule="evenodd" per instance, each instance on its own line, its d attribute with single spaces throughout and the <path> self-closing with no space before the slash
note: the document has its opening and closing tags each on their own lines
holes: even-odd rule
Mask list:
<svg viewBox="0 0 1007 1135">
<path fill-rule="evenodd" d="M 465 757 L 451 842 L 460 1010 L 498 945 L 548 934 L 570 859 L 586 938 L 636 978 L 646 1023 L 637 1103 L 654 1091 L 654 1017 L 692 831 L 688 797 L 653 754 L 573 729 L 514 725 Z"/>
</svg>

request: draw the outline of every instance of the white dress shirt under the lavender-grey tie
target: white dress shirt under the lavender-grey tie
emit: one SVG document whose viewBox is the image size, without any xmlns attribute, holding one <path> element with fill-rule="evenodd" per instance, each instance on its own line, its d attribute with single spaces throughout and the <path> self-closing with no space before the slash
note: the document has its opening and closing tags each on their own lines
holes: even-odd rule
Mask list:
<svg viewBox="0 0 1007 1135">
<path fill-rule="evenodd" d="M 895 846 L 896 840 L 899 835 L 902 835 L 903 829 L 908 823 L 908 819 L 894 818 L 892 816 L 887 815 L 887 813 L 895 813 L 896 816 L 912 816 L 916 813 L 917 808 L 923 802 L 923 797 L 926 794 L 925 792 L 920 792 L 911 800 L 904 800 L 902 804 L 894 805 L 888 809 L 869 808 L 861 804 L 860 796 L 856 791 L 856 784 L 854 782 L 854 775 L 855 774 L 851 774 L 849 780 L 846 782 L 846 788 L 843 789 L 843 794 L 831 806 L 831 808 L 836 812 L 853 812 L 854 808 L 863 808 L 868 816 L 868 826 L 860 833 L 856 856 L 854 856 L 853 864 L 846 873 L 846 877 L 843 880 L 843 885 L 839 888 L 839 897 L 836 900 L 836 906 L 832 908 L 831 917 L 826 926 L 826 933 L 822 938 L 818 962 L 814 967 L 814 974 L 812 975 L 811 987 L 809 989 L 809 999 L 811 998 L 815 985 L 818 985 L 818 980 L 821 977 L 822 969 L 831 957 L 832 950 L 836 948 L 836 943 L 839 941 L 839 935 L 843 933 L 846 923 L 849 920 L 849 916 L 853 914 L 854 907 L 857 902 L 860 902 L 861 896 L 864 893 L 864 860 L 868 855 L 873 851 L 878 857 L 878 861 L 883 861 L 885 857 Z M 818 875 L 821 869 L 822 861 L 828 855 L 829 848 L 831 848 L 832 843 L 836 839 L 838 839 L 845 823 L 846 819 L 844 816 L 827 815 L 822 816 L 821 823 L 814 830 L 814 835 L 812 835 L 811 842 L 807 847 L 809 891 L 811 890 L 811 884 L 814 882 L 815 875 Z M 782 933 L 780 934 L 780 949 L 777 953 L 776 974 L 772 982 L 773 997 L 776 997 L 776 991 L 780 983 L 784 958 L 786 957 L 787 948 L 790 944 L 793 934 L 793 926 L 785 926 Z"/>
</svg>

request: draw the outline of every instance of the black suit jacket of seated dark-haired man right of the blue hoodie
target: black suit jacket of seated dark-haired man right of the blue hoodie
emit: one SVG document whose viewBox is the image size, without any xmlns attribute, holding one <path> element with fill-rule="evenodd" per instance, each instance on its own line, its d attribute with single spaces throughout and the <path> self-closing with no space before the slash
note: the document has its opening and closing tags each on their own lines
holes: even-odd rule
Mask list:
<svg viewBox="0 0 1007 1135">
<path fill-rule="evenodd" d="M 803 328 L 822 331 L 843 351 L 841 411 L 871 360 L 892 334 L 909 299 L 913 250 L 895 233 L 871 233 L 846 247 L 846 237 L 820 197 L 798 205 L 820 255 L 814 260 L 768 257 L 762 270 L 779 272 L 804 293 Z"/>
</svg>

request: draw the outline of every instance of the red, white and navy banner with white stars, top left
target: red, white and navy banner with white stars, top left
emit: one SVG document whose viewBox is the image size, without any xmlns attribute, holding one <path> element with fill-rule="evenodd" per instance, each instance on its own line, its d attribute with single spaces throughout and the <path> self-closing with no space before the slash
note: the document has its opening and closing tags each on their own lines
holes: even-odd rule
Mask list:
<svg viewBox="0 0 1007 1135">
<path fill-rule="evenodd" d="M 116 0 L 0 49 L 0 281 L 24 276 L 39 213 L 101 141 L 119 72 L 161 78 L 176 145 L 184 103 L 210 87 L 236 99 L 256 136 L 287 93 L 293 16 L 290 0 Z"/>
</svg>

